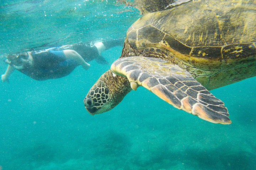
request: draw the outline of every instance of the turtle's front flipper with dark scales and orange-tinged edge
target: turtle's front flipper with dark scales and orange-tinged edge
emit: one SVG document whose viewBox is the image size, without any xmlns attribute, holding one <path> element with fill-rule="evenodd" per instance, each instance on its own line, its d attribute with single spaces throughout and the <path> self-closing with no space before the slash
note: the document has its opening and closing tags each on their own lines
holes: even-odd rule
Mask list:
<svg viewBox="0 0 256 170">
<path fill-rule="evenodd" d="M 143 86 L 175 108 L 203 120 L 231 123 L 224 103 L 177 65 L 162 59 L 134 56 L 116 60 L 111 70 L 127 77 L 134 90 Z"/>
</svg>

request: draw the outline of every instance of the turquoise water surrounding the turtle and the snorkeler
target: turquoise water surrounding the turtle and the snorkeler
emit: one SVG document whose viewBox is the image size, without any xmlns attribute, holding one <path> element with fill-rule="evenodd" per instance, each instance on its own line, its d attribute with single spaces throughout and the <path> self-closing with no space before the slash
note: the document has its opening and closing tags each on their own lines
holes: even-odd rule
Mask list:
<svg viewBox="0 0 256 170">
<path fill-rule="evenodd" d="M 118 38 L 139 18 L 136 9 L 114 0 L 0 2 L 2 57 Z M 112 63 L 121 51 L 118 46 L 102 55 Z M 90 64 L 87 71 L 77 67 L 46 81 L 15 71 L 9 83 L 0 83 L 2 170 L 256 169 L 255 77 L 211 91 L 229 109 L 230 125 L 177 110 L 143 87 L 113 110 L 91 116 L 83 99 L 110 65 Z M 0 62 L 1 74 L 6 68 Z"/>
</svg>

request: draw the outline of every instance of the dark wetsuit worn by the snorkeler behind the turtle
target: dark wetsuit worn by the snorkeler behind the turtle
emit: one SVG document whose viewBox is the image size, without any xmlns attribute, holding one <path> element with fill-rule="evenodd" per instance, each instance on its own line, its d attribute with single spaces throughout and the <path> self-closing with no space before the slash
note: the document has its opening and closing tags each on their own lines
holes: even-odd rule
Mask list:
<svg viewBox="0 0 256 170">
<path fill-rule="evenodd" d="M 102 43 L 106 49 L 114 46 L 123 46 L 124 38 L 107 40 Z M 53 47 L 40 51 L 32 51 L 33 65 L 24 65 L 23 69 L 18 71 L 36 79 L 46 80 L 55 79 L 69 75 L 77 66 L 78 62 L 73 59 L 66 59 L 63 50 L 70 49 L 76 51 L 82 56 L 85 62 L 96 60 L 99 64 L 108 64 L 108 62 L 98 53 L 96 46 L 89 43 L 71 44 L 68 46 Z"/>
</svg>

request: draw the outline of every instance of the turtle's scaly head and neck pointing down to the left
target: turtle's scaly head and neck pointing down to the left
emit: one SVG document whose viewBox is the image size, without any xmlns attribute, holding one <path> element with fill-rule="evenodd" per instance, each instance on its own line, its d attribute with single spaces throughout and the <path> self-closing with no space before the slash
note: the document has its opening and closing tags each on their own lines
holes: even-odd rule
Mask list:
<svg viewBox="0 0 256 170">
<path fill-rule="evenodd" d="M 87 93 L 84 99 L 85 108 L 91 115 L 104 113 L 113 109 L 131 90 L 126 77 L 108 70 Z"/>
</svg>

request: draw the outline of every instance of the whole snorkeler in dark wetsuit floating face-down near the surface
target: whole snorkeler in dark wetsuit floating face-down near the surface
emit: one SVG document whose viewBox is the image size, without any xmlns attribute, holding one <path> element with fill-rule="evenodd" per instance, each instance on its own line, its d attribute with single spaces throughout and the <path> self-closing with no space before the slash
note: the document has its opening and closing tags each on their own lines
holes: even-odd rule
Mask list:
<svg viewBox="0 0 256 170">
<path fill-rule="evenodd" d="M 108 64 L 101 52 L 114 46 L 123 46 L 123 42 L 124 38 L 121 38 L 96 42 L 92 46 L 89 43 L 79 43 L 9 55 L 5 60 L 9 65 L 1 78 L 3 82 L 8 81 L 15 69 L 41 81 L 64 77 L 79 65 L 87 70 L 90 67 L 87 62 L 94 59 L 99 64 Z"/>
</svg>

